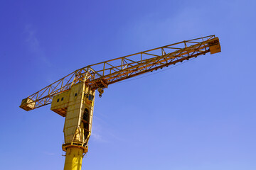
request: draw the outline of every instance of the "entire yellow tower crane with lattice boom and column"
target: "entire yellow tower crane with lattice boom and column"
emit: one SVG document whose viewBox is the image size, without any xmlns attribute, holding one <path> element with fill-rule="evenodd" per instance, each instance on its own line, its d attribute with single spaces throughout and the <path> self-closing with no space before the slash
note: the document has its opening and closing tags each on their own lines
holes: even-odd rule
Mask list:
<svg viewBox="0 0 256 170">
<path fill-rule="evenodd" d="M 117 81 L 169 67 L 198 55 L 206 55 L 208 52 L 220 52 L 220 42 L 215 35 L 176 42 L 88 65 L 24 98 L 20 107 L 31 111 L 51 103 L 50 110 L 65 117 L 65 143 L 62 145 L 63 151 L 66 152 L 64 170 L 80 170 L 92 132 L 96 90 L 101 97 L 104 89 Z"/>
</svg>

